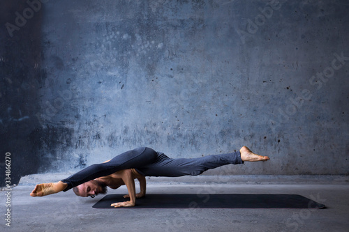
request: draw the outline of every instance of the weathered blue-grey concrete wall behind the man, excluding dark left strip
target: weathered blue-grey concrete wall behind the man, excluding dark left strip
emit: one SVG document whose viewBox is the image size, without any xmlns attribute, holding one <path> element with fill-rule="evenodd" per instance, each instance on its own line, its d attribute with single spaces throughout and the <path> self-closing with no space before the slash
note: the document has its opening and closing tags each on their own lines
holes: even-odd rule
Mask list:
<svg viewBox="0 0 349 232">
<path fill-rule="evenodd" d="M 339 0 L 42 3 L 27 119 L 38 121 L 39 171 L 138 146 L 172 157 L 249 146 L 272 160 L 224 173 L 348 174 L 348 10 Z"/>
</svg>

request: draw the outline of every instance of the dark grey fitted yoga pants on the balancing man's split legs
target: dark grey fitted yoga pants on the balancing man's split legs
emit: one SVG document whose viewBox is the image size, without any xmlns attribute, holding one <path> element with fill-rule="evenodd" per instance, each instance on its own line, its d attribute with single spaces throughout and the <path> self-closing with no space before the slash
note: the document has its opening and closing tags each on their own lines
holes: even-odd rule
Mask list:
<svg viewBox="0 0 349 232">
<path fill-rule="evenodd" d="M 151 148 L 128 150 L 109 162 L 92 164 L 81 171 L 61 180 L 68 184 L 66 190 L 101 176 L 108 176 L 123 169 L 135 169 L 142 176 L 197 176 L 209 169 L 226 164 L 243 164 L 239 151 L 221 155 L 207 155 L 192 159 L 171 159 Z"/>
</svg>

